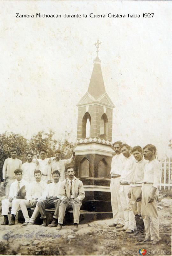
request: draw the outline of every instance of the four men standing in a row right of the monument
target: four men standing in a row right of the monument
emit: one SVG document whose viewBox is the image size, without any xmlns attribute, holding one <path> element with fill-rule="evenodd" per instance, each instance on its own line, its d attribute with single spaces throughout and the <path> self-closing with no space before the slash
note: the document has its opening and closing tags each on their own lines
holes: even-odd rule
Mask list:
<svg viewBox="0 0 172 256">
<path fill-rule="evenodd" d="M 145 233 L 142 242 L 152 240 L 157 244 L 160 240 L 157 203 L 161 164 L 155 156 L 156 148 L 147 144 L 143 150 L 140 146 L 131 150 L 121 141 L 114 142 L 113 147 L 116 155 L 111 162 L 113 223 L 110 226 L 140 238 Z"/>
</svg>

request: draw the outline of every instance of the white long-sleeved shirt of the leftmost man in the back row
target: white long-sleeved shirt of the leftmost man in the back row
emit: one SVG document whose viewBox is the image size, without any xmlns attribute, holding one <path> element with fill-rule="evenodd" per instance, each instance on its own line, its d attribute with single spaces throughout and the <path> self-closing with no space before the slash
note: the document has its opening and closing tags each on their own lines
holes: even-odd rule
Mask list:
<svg viewBox="0 0 172 256">
<path fill-rule="evenodd" d="M 15 178 L 14 171 L 21 169 L 22 161 L 18 158 L 7 158 L 3 165 L 3 180 L 6 178 Z"/>
</svg>

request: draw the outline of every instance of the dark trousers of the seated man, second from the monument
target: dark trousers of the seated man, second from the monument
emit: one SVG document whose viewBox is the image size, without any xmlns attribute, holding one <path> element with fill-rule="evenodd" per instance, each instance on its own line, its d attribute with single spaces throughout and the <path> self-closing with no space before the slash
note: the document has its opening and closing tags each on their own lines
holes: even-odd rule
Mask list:
<svg viewBox="0 0 172 256">
<path fill-rule="evenodd" d="M 54 200 L 53 203 L 48 202 L 48 200 L 39 201 L 38 208 L 39 208 L 39 212 L 41 214 L 41 219 L 46 219 L 46 208 L 47 209 L 55 208 L 53 218 L 58 220 L 60 203 L 61 203 L 60 199 Z"/>
</svg>

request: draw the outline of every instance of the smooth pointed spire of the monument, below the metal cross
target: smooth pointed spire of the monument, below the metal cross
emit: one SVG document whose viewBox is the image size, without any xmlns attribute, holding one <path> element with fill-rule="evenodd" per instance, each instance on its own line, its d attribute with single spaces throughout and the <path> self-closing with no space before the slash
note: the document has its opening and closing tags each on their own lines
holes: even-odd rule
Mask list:
<svg viewBox="0 0 172 256">
<path fill-rule="evenodd" d="M 100 59 L 96 57 L 88 88 L 88 92 L 95 98 L 95 100 L 106 92 L 100 62 Z"/>
</svg>

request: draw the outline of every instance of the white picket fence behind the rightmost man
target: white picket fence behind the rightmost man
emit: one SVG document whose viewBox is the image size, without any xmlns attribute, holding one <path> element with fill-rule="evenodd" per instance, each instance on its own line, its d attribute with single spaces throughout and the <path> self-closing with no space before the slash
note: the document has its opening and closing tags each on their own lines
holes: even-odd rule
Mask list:
<svg viewBox="0 0 172 256">
<path fill-rule="evenodd" d="M 159 184 L 159 189 L 167 189 L 170 190 L 172 187 L 172 174 L 171 174 L 171 166 L 172 166 L 172 158 L 164 158 L 158 159 L 162 165 L 162 176 Z"/>
</svg>

